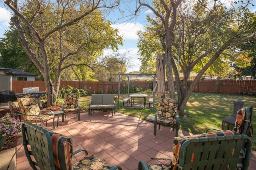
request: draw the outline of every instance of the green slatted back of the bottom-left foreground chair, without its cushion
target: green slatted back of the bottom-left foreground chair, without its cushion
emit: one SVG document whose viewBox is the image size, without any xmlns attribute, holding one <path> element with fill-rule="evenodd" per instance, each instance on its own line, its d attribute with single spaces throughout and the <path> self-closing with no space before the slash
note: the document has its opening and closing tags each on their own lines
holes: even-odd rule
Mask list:
<svg viewBox="0 0 256 170">
<path fill-rule="evenodd" d="M 46 129 L 28 121 L 22 124 L 22 143 L 33 170 L 55 170 L 52 139 Z"/>
</svg>

